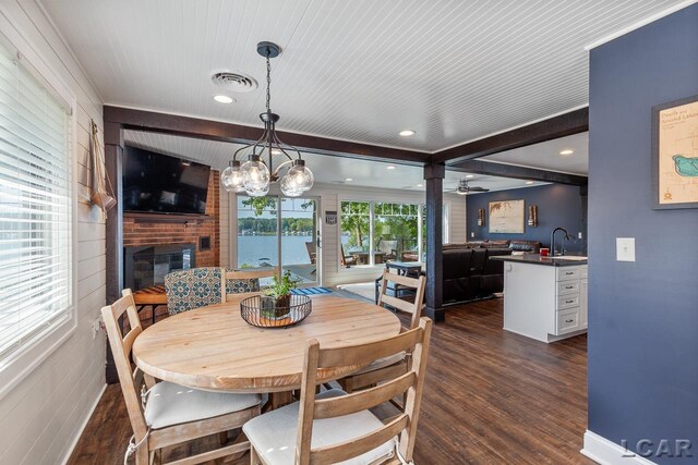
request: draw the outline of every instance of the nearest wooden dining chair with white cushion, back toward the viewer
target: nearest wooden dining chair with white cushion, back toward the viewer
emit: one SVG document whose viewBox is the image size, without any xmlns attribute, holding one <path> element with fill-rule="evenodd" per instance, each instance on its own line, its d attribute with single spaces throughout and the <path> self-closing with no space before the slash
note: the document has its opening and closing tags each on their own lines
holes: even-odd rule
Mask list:
<svg viewBox="0 0 698 465">
<path fill-rule="evenodd" d="M 252 465 L 411 463 L 431 329 L 432 321 L 422 318 L 417 328 L 372 343 L 323 348 L 310 340 L 300 402 L 242 427 L 252 445 Z M 408 351 L 412 354 L 409 370 L 378 387 L 352 394 L 333 389 L 315 395 L 318 370 L 365 365 Z M 381 421 L 369 411 L 402 393 L 407 404 L 395 418 Z"/>
</svg>

